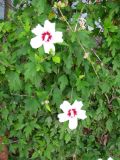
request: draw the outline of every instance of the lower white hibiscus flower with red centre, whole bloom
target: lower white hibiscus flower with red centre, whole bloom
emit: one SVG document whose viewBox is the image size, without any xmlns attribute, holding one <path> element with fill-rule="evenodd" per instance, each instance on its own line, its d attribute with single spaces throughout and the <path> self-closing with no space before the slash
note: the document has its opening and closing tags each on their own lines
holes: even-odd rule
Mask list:
<svg viewBox="0 0 120 160">
<path fill-rule="evenodd" d="M 72 105 L 68 101 L 63 101 L 60 108 L 64 113 L 58 114 L 60 122 L 69 121 L 69 128 L 71 130 L 76 129 L 78 125 L 78 119 L 84 120 L 87 118 L 86 111 L 81 110 L 83 103 L 81 101 L 75 101 Z"/>
</svg>

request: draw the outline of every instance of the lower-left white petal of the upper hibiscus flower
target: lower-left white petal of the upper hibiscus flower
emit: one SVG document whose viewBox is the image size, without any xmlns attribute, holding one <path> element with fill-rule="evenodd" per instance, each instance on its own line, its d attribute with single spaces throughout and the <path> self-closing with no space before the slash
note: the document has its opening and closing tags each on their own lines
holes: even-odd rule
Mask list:
<svg viewBox="0 0 120 160">
<path fill-rule="evenodd" d="M 31 39 L 30 44 L 31 44 L 32 48 L 39 48 L 40 46 L 42 46 L 43 42 L 39 36 L 36 36 Z"/>
</svg>

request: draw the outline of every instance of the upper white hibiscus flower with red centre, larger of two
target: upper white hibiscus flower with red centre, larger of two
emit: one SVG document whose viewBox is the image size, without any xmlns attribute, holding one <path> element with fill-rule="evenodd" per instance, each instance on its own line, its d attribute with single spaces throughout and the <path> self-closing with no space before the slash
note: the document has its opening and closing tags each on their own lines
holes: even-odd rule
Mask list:
<svg viewBox="0 0 120 160">
<path fill-rule="evenodd" d="M 38 24 L 32 33 L 36 37 L 32 38 L 30 44 L 32 48 L 39 48 L 43 45 L 45 53 L 49 53 L 50 50 L 55 52 L 54 43 L 62 43 L 62 32 L 55 31 L 55 23 L 51 23 L 49 20 L 44 22 L 44 27 Z"/>
</svg>

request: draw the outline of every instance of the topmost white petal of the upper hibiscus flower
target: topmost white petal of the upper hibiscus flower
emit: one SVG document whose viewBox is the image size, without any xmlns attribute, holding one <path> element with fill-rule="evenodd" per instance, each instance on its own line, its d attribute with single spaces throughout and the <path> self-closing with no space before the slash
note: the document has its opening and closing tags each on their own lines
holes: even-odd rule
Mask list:
<svg viewBox="0 0 120 160">
<path fill-rule="evenodd" d="M 55 32 L 55 23 L 51 23 L 50 21 L 45 20 L 44 29 L 46 31 L 50 31 L 50 33 L 54 33 Z"/>
</svg>

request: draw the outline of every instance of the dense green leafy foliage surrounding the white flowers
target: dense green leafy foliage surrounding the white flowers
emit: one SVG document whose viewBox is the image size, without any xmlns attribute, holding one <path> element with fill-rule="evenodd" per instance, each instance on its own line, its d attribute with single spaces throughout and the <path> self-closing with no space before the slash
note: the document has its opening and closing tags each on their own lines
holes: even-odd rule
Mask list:
<svg viewBox="0 0 120 160">
<path fill-rule="evenodd" d="M 0 22 L 0 136 L 10 160 L 120 159 L 119 3 L 16 0 Z M 81 28 L 82 13 L 94 30 Z M 55 55 L 30 46 L 46 19 L 63 32 Z M 87 118 L 71 131 L 57 115 L 76 99 Z"/>
</svg>

